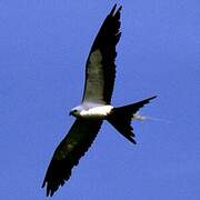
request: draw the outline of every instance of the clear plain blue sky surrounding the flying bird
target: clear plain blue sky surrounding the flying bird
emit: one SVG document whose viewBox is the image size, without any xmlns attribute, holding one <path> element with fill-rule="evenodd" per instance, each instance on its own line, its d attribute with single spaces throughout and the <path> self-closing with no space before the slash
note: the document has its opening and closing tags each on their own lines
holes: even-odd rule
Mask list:
<svg viewBox="0 0 200 200">
<path fill-rule="evenodd" d="M 42 200 L 42 180 L 80 103 L 91 43 L 122 4 L 112 102 L 158 94 L 137 146 L 103 123 L 54 200 L 200 199 L 199 0 L 0 1 L 0 199 Z"/>
</svg>

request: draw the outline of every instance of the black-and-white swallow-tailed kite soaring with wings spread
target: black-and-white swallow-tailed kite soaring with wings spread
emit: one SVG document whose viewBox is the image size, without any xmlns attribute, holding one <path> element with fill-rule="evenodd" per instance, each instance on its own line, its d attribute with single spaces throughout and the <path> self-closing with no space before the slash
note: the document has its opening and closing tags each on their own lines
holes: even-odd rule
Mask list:
<svg viewBox="0 0 200 200">
<path fill-rule="evenodd" d="M 136 143 L 131 121 L 143 119 L 138 110 L 154 97 L 123 107 L 111 106 L 116 78 L 116 46 L 120 39 L 120 14 L 122 7 L 117 4 L 104 19 L 91 47 L 86 63 L 86 81 L 81 104 L 70 111 L 76 121 L 57 147 L 48 167 L 42 188 L 47 184 L 47 196 L 53 196 L 71 176 L 93 140 L 102 122 L 111 123 L 124 138 Z"/>
</svg>

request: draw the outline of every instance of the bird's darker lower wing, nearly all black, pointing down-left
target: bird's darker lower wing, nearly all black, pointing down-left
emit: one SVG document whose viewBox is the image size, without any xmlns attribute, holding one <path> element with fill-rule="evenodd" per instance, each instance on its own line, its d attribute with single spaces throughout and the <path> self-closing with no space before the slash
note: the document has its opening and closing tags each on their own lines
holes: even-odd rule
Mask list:
<svg viewBox="0 0 200 200">
<path fill-rule="evenodd" d="M 77 119 L 69 133 L 54 151 L 52 160 L 43 180 L 42 188 L 47 184 L 47 196 L 53 196 L 60 186 L 64 184 L 71 176 L 71 170 L 79 163 L 94 140 L 101 120 Z"/>
</svg>

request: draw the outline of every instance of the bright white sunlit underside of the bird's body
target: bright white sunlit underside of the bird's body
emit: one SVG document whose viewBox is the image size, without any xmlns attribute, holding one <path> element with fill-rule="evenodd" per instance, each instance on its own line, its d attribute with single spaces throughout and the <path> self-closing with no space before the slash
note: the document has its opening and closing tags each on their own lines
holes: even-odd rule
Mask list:
<svg viewBox="0 0 200 200">
<path fill-rule="evenodd" d="M 104 118 L 110 113 L 112 108 L 112 106 L 94 107 L 89 110 L 82 110 L 80 116 L 84 118 Z"/>
</svg>

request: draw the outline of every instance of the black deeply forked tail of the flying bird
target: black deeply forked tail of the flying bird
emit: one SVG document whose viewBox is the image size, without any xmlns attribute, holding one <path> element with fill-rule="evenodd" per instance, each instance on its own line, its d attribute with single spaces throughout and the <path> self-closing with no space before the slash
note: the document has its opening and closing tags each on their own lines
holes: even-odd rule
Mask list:
<svg viewBox="0 0 200 200">
<path fill-rule="evenodd" d="M 133 114 L 136 114 L 140 108 L 149 103 L 150 100 L 156 97 L 157 96 L 136 103 L 113 108 L 107 120 L 130 142 L 137 143 L 134 140 L 133 128 L 131 127 Z"/>
</svg>

